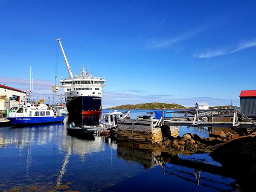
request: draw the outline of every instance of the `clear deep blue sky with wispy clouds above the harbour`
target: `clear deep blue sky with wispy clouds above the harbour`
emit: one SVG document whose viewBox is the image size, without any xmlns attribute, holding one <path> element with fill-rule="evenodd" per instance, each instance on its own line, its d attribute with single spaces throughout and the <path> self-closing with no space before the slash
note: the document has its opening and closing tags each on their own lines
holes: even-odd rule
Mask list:
<svg viewBox="0 0 256 192">
<path fill-rule="evenodd" d="M 239 104 L 254 90 L 256 1 L 0 0 L 0 83 L 52 97 L 84 65 L 105 77 L 103 108 Z M 58 62 L 57 62 L 58 61 Z"/>
</svg>

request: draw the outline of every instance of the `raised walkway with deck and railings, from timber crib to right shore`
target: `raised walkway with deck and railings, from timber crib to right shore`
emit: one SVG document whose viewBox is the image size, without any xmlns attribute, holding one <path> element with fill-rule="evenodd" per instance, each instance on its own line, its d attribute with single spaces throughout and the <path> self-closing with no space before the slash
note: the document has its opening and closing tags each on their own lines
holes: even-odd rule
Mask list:
<svg viewBox="0 0 256 192">
<path fill-rule="evenodd" d="M 185 113 L 186 116 L 166 117 L 166 113 Z M 191 109 L 171 112 L 162 110 L 162 117 L 162 125 L 167 126 L 253 128 L 248 135 L 256 131 L 256 120 L 253 120 L 252 117 L 249 118 L 236 108 Z"/>
</svg>

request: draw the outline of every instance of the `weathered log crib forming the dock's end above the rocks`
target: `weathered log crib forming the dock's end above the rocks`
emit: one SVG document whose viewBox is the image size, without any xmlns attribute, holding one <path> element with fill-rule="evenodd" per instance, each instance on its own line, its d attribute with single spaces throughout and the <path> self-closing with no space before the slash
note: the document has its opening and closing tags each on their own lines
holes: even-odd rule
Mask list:
<svg viewBox="0 0 256 192">
<path fill-rule="evenodd" d="M 158 120 L 119 119 L 117 138 L 141 143 L 155 143 L 163 139 L 160 127 L 154 127 Z"/>
</svg>

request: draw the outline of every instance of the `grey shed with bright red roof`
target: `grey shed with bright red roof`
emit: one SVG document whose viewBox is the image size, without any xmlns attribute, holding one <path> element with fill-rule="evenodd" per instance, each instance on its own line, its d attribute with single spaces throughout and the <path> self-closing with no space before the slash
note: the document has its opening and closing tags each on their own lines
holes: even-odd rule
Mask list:
<svg viewBox="0 0 256 192">
<path fill-rule="evenodd" d="M 239 97 L 241 112 L 247 116 L 256 116 L 256 90 L 242 90 Z"/>
</svg>

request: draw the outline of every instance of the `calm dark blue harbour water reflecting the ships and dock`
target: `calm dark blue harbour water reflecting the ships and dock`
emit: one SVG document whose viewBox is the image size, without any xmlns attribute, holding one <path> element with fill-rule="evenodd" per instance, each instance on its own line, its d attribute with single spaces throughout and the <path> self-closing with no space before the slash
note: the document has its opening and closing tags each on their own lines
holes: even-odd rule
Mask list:
<svg viewBox="0 0 256 192">
<path fill-rule="evenodd" d="M 145 112 L 133 110 L 131 118 Z M 170 156 L 109 137 L 82 140 L 67 135 L 68 121 L 97 125 L 98 119 L 77 116 L 51 125 L 0 127 L 0 191 L 15 187 L 24 191 L 29 186 L 50 191 L 67 182 L 69 188 L 58 191 L 235 191 L 235 180 L 221 171 L 218 175 L 221 165 L 207 153 Z M 187 132 L 209 134 L 207 128 L 180 128 L 180 135 Z"/>
</svg>

